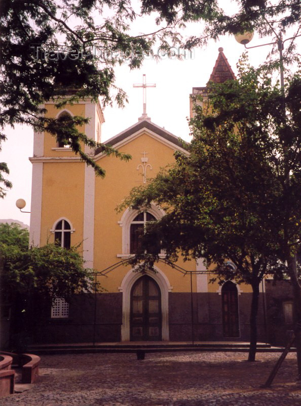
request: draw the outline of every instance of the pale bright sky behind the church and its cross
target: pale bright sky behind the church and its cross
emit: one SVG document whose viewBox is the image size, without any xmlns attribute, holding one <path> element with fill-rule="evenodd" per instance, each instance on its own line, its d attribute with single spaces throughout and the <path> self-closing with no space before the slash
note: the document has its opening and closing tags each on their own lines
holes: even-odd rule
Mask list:
<svg viewBox="0 0 301 406">
<path fill-rule="evenodd" d="M 154 18 L 143 20 L 143 31 L 146 31 L 148 22 Z M 141 22 L 140 22 L 141 24 Z M 141 30 L 141 26 L 138 26 Z M 198 27 L 189 27 L 189 32 L 195 32 Z M 144 32 L 145 32 L 144 31 Z M 151 31 L 150 31 L 151 32 Z M 259 38 L 255 33 L 250 45 L 259 45 L 271 42 L 271 38 Z M 298 41 L 300 46 L 300 41 Z M 193 87 L 205 86 L 209 80 L 213 66 L 218 56 L 218 48 L 223 48 L 234 73 L 236 64 L 244 47 L 236 42 L 234 37 L 224 36 L 217 42 L 209 41 L 203 48 L 195 48 L 192 57 L 182 60 L 168 59 L 166 57 L 145 60 L 141 69 L 131 71 L 127 65 L 116 69 L 116 85 L 122 87 L 129 103 L 124 109 L 116 105 L 103 109 L 105 123 L 102 126 L 101 142 L 115 136 L 129 126 L 135 124 L 141 116 L 142 89 L 133 88 L 133 84 L 142 83 L 142 75 L 146 75 L 147 83 L 156 83 L 156 88 L 146 90 L 146 112 L 152 122 L 164 127 L 177 137 L 186 141 L 191 139 L 187 118 L 189 117 L 189 96 Z M 270 46 L 250 49 L 249 61 L 258 66 L 266 60 Z M 3 143 L 0 152 L 0 161 L 7 162 L 10 170 L 8 179 L 13 188 L 7 191 L 4 199 L 0 199 L 0 219 L 15 219 L 29 224 L 30 214 L 21 213 L 15 202 L 18 198 L 26 201 L 23 211 L 30 211 L 31 201 L 31 163 L 28 157 L 33 151 L 33 130 L 28 126 L 7 127 L 8 140 Z"/>
</svg>

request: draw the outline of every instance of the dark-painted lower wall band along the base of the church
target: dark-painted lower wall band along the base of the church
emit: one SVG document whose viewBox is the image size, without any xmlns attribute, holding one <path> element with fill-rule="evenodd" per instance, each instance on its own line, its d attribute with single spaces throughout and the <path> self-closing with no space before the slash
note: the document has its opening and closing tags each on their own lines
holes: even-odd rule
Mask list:
<svg viewBox="0 0 301 406">
<path fill-rule="evenodd" d="M 273 281 L 266 284 L 266 314 L 262 293 L 259 294 L 257 316 L 258 341 L 282 345 L 286 343 L 282 303 L 291 299 L 288 282 Z M 224 337 L 222 328 L 221 295 L 218 293 L 169 293 L 170 341 L 246 341 L 249 340 L 249 314 L 251 293 L 241 293 L 239 302 L 240 336 Z M 96 343 L 121 341 L 122 293 L 74 295 L 69 305 L 67 319 L 51 319 L 50 306 L 43 322 L 32 334 L 34 343 Z"/>
</svg>

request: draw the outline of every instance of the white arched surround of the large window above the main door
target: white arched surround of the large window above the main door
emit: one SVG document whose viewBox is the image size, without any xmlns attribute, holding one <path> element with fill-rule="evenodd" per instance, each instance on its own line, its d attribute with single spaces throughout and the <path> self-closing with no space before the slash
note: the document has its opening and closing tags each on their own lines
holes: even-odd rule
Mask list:
<svg viewBox="0 0 301 406">
<path fill-rule="evenodd" d="M 130 226 L 134 218 L 138 213 L 144 210 L 132 210 L 127 208 L 123 213 L 121 220 L 118 221 L 118 224 L 122 227 L 122 255 L 130 255 Z M 165 215 L 164 210 L 158 208 L 155 205 L 145 209 L 148 213 L 152 214 L 156 219 L 159 219 Z M 121 256 L 121 254 L 119 254 Z"/>
</svg>

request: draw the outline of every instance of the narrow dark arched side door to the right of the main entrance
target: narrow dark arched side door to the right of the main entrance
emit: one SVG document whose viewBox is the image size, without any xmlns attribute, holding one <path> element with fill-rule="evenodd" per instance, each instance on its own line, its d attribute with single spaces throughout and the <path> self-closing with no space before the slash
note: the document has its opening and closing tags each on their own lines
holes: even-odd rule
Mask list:
<svg viewBox="0 0 301 406">
<path fill-rule="evenodd" d="M 233 282 L 221 288 L 222 327 L 224 337 L 239 337 L 238 293 Z"/>
</svg>

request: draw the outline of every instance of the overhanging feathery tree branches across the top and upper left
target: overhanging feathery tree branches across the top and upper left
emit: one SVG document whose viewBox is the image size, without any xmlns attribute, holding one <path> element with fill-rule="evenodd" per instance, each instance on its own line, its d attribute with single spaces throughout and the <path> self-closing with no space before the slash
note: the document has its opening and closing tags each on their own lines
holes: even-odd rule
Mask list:
<svg viewBox="0 0 301 406">
<path fill-rule="evenodd" d="M 191 21 L 202 21 L 204 30 L 200 36 L 187 38 L 183 43 L 186 48 L 244 30 L 269 35 L 273 33 L 271 24 L 279 28 L 280 34 L 284 33 L 299 21 L 299 3 L 296 0 L 274 3 L 237 0 L 237 11 L 228 15 L 227 7 L 219 7 L 217 0 L 142 0 L 137 8 L 130 0 L 2 2 L 0 127 L 21 123 L 32 125 L 38 131 L 48 131 L 58 141 L 69 144 L 94 167 L 96 174 L 104 176 L 102 168 L 85 154 L 83 144 L 102 147 L 104 152 L 122 159 L 129 156 L 88 139 L 78 129 L 88 121 L 83 117 L 46 118 L 46 111 L 41 107 L 44 101 L 54 99 L 59 108 L 67 101 L 97 100 L 100 96 L 103 104 L 115 99 L 123 106 L 126 94 L 114 84 L 116 64 L 128 63 L 131 69 L 140 67 L 155 43 L 168 52 L 171 45 L 180 42 L 177 26 Z M 152 12 L 157 13 L 158 29 L 132 35 L 133 21 Z M 288 53 L 292 50 L 293 41 L 287 48 Z M 5 133 L 1 132 L 0 141 L 5 139 Z M 7 173 L 7 167 L 2 164 L 0 182 L 9 188 L 11 184 L 5 180 Z M 4 195 L 2 188 L 0 197 Z"/>
</svg>

